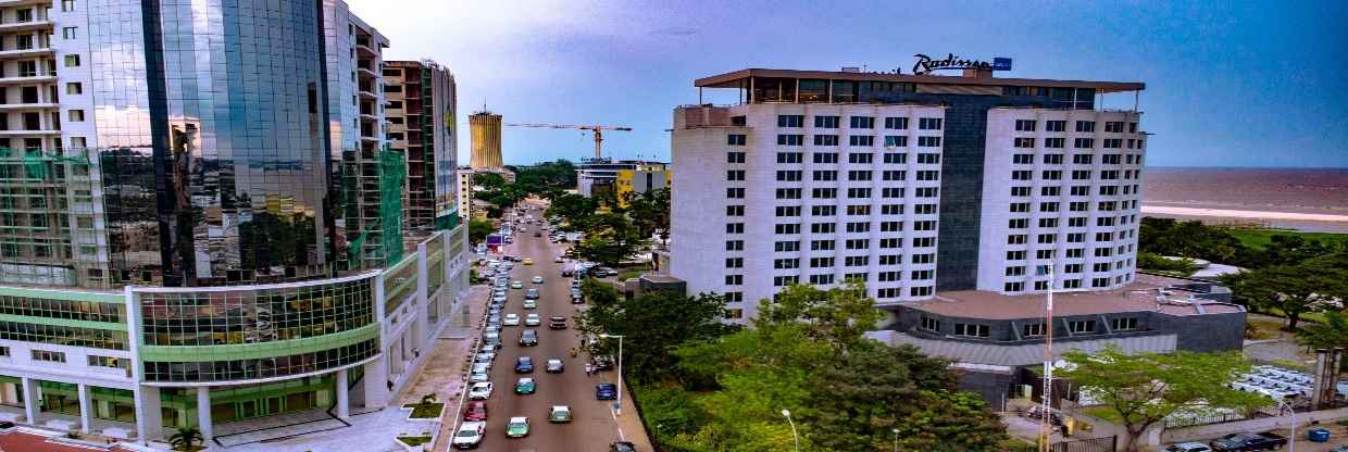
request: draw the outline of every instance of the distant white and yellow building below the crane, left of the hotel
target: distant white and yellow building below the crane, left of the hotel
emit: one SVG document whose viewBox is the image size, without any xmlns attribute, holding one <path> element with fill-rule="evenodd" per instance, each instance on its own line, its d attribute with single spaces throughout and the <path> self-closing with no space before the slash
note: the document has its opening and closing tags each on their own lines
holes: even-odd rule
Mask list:
<svg viewBox="0 0 1348 452">
<path fill-rule="evenodd" d="M 612 194 L 625 205 L 628 193 L 640 194 L 671 186 L 667 163 L 584 158 L 576 169 L 576 192 L 585 197 Z"/>
</svg>

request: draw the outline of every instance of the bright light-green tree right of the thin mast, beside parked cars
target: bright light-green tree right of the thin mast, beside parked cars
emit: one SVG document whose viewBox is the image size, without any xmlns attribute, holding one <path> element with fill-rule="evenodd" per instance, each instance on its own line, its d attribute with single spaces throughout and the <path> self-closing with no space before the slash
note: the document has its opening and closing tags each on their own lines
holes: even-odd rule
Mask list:
<svg viewBox="0 0 1348 452">
<path fill-rule="evenodd" d="M 1062 358 L 1068 368 L 1058 375 L 1122 420 L 1128 451 L 1138 451 L 1138 437 L 1154 425 L 1165 428 L 1162 421 L 1175 413 L 1250 413 L 1273 403 L 1264 395 L 1227 386 L 1250 371 L 1240 352 L 1128 355 L 1111 345 L 1097 354 L 1069 351 Z"/>
</svg>

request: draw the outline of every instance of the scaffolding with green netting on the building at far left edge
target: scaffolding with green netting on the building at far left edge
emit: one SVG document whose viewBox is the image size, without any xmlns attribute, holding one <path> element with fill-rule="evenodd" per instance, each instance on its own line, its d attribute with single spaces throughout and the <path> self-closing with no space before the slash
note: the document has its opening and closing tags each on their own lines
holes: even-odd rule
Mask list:
<svg viewBox="0 0 1348 452">
<path fill-rule="evenodd" d="M 0 148 L 0 283 L 106 287 L 97 159 Z"/>
</svg>

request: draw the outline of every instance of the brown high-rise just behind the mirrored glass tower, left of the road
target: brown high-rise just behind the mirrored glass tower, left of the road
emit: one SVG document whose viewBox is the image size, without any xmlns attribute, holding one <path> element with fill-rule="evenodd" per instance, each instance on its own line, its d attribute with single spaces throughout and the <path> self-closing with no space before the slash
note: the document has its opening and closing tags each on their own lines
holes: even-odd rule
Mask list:
<svg viewBox="0 0 1348 452">
<path fill-rule="evenodd" d="M 384 100 L 390 148 L 402 152 L 407 165 L 406 232 L 417 236 L 453 228 L 452 213 L 464 212 L 454 183 L 454 76 L 434 61 L 386 62 Z"/>
</svg>

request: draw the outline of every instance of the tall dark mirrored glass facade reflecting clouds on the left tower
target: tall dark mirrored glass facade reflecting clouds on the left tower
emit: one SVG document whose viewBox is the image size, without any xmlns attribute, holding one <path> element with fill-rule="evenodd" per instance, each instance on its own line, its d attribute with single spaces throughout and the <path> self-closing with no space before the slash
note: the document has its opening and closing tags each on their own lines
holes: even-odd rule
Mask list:
<svg viewBox="0 0 1348 452">
<path fill-rule="evenodd" d="M 321 4 L 94 1 L 88 11 L 115 279 L 326 274 Z"/>
</svg>

